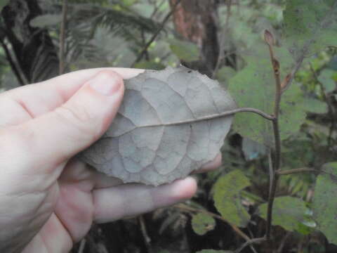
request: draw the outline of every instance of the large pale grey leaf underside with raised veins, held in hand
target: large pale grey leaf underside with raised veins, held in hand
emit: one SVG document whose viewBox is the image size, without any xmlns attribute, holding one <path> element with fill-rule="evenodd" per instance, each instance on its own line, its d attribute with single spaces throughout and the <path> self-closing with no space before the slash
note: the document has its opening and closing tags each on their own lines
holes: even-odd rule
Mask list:
<svg viewBox="0 0 337 253">
<path fill-rule="evenodd" d="M 218 82 L 185 67 L 146 71 L 126 80 L 124 101 L 84 161 L 124 182 L 152 185 L 190 174 L 213 160 L 236 108 Z"/>
</svg>

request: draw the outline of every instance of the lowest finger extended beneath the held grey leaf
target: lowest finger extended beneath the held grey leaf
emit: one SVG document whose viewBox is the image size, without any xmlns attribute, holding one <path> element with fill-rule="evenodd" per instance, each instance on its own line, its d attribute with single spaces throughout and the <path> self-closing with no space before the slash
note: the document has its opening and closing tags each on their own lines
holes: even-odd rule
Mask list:
<svg viewBox="0 0 337 253">
<path fill-rule="evenodd" d="M 191 177 L 158 187 L 125 184 L 93 190 L 94 220 L 105 223 L 150 212 L 187 200 L 196 190 L 197 183 Z"/>
</svg>

